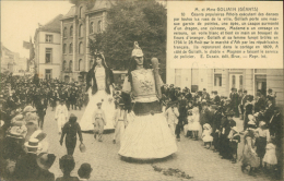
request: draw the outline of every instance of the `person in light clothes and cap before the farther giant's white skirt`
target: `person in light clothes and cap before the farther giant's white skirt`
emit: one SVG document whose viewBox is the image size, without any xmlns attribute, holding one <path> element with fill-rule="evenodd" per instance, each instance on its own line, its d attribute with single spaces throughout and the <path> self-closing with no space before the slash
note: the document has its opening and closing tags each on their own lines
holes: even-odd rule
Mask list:
<svg viewBox="0 0 284 181">
<path fill-rule="evenodd" d="M 98 142 L 103 142 L 103 132 L 104 126 L 106 125 L 106 117 L 105 111 L 102 109 L 103 102 L 97 102 L 97 109 L 94 111 L 93 114 L 93 124 L 94 124 L 94 137 L 98 134 Z"/>
</svg>

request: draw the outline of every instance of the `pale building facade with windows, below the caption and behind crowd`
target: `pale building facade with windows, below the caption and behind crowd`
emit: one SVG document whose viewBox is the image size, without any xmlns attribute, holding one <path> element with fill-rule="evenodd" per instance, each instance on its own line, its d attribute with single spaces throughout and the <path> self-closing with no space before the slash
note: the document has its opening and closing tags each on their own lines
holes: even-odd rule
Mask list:
<svg viewBox="0 0 284 181">
<path fill-rule="evenodd" d="M 188 87 L 192 92 L 206 88 L 208 93 L 217 90 L 228 97 L 232 88 L 246 89 L 249 95 L 258 90 L 267 95 L 271 88 L 276 94 L 276 106 L 283 107 L 284 74 L 282 69 L 170 69 L 167 70 L 167 84 Z"/>
</svg>

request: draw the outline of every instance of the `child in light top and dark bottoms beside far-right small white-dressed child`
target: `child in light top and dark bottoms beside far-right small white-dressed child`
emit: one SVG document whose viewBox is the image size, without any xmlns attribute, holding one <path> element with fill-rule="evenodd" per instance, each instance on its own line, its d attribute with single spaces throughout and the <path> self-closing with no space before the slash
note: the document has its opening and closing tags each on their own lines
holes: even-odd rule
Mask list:
<svg viewBox="0 0 284 181">
<path fill-rule="evenodd" d="M 270 132 L 269 129 L 267 129 L 264 121 L 259 122 L 259 128 L 256 130 L 256 133 L 257 154 L 260 158 L 260 167 L 262 167 L 262 159 L 265 155 L 267 143 L 270 141 Z"/>
</svg>

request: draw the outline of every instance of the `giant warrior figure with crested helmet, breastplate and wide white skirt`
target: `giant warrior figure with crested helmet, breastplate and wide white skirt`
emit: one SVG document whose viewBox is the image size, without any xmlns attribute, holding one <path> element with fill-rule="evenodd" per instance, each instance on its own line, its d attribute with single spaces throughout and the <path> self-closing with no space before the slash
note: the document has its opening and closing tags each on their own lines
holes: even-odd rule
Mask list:
<svg viewBox="0 0 284 181">
<path fill-rule="evenodd" d="M 161 80 L 161 77 L 158 76 Z M 122 97 L 134 114 L 121 137 L 119 155 L 135 159 L 167 157 L 177 152 L 174 135 L 157 98 L 153 69 L 143 60 L 143 52 L 135 43 Z M 162 81 L 161 81 L 162 82 Z M 156 88 L 157 87 L 157 88 Z M 132 97 L 132 102 L 130 97 Z"/>
</svg>

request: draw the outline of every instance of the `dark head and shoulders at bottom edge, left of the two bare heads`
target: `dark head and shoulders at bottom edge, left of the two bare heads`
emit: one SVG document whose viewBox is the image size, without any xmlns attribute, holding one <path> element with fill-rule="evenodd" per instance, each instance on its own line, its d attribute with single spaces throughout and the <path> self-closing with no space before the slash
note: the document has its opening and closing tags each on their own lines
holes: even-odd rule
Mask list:
<svg viewBox="0 0 284 181">
<path fill-rule="evenodd" d="M 71 171 L 75 168 L 75 161 L 73 156 L 64 155 L 59 159 L 60 170 L 63 172 L 63 177 L 57 178 L 56 181 L 80 181 L 78 177 L 71 177 Z"/>
</svg>

